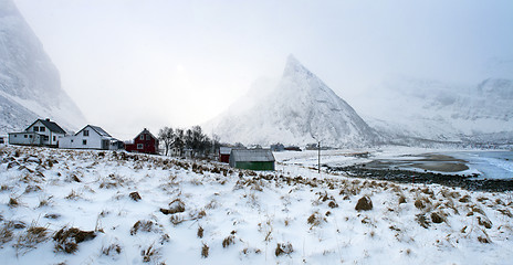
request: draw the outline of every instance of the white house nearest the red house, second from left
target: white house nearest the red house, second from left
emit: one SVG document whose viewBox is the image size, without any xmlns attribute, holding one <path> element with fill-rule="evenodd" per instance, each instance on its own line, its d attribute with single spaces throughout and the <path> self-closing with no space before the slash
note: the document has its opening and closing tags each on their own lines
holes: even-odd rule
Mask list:
<svg viewBox="0 0 513 265">
<path fill-rule="evenodd" d="M 61 138 L 59 148 L 117 150 L 123 149 L 123 142 L 101 127 L 87 125 L 75 135 Z"/>
</svg>

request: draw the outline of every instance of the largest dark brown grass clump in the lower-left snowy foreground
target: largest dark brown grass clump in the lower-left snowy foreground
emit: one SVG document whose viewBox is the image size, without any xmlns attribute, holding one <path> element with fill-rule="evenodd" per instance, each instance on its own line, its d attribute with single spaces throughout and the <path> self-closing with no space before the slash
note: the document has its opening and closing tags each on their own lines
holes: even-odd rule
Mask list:
<svg viewBox="0 0 513 265">
<path fill-rule="evenodd" d="M 82 231 L 76 227 L 67 229 L 64 226 L 53 235 L 53 240 L 55 241 L 54 248 L 55 252 L 72 254 L 77 250 L 78 243 L 93 240 L 94 237 L 96 237 L 94 231 Z"/>
</svg>

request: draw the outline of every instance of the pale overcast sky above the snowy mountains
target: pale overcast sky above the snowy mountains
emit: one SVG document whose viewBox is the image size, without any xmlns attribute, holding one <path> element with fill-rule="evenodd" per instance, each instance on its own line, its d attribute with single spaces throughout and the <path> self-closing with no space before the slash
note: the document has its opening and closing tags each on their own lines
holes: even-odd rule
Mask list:
<svg viewBox="0 0 513 265">
<path fill-rule="evenodd" d="M 473 83 L 513 62 L 511 0 L 14 1 L 86 119 L 119 138 L 205 123 L 291 53 L 357 106 L 384 76 Z"/>
</svg>

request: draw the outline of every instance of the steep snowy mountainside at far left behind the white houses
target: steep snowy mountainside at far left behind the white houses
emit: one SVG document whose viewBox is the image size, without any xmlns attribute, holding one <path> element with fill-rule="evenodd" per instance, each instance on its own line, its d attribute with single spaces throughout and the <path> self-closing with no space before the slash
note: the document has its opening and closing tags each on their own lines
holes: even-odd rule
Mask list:
<svg viewBox="0 0 513 265">
<path fill-rule="evenodd" d="M 15 4 L 0 0 L 0 134 L 24 129 L 36 118 L 51 118 L 67 129 L 85 124 Z"/>
</svg>

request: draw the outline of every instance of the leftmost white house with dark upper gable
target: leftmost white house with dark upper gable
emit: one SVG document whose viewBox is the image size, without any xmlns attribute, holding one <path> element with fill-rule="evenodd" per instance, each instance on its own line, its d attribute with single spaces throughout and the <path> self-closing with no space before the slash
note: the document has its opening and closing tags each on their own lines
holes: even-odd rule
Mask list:
<svg viewBox="0 0 513 265">
<path fill-rule="evenodd" d="M 50 119 L 38 119 L 24 131 L 9 132 L 9 144 L 23 146 L 59 146 L 59 140 L 64 137 L 61 126 Z"/>
</svg>

